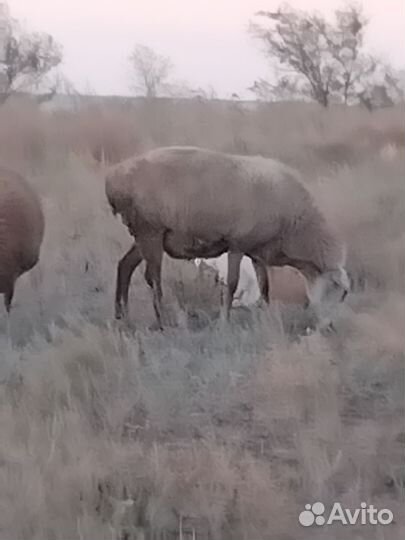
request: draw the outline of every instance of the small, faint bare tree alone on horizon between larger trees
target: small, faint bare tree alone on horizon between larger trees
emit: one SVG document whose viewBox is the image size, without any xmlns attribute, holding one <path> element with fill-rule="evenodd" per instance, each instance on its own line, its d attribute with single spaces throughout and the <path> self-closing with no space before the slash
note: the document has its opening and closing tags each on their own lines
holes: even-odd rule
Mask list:
<svg viewBox="0 0 405 540">
<path fill-rule="evenodd" d="M 133 88 L 148 98 L 157 97 L 167 89 L 168 78 L 173 70 L 169 57 L 162 56 L 150 47 L 136 45 L 129 60 L 134 75 Z"/>
</svg>

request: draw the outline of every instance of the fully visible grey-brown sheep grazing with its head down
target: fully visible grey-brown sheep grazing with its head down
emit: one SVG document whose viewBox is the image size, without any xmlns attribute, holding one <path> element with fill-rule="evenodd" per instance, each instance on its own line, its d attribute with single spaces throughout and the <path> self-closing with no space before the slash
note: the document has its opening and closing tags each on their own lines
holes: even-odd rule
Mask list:
<svg viewBox="0 0 405 540">
<path fill-rule="evenodd" d="M 118 264 L 117 318 L 127 315 L 131 275 L 145 260 L 145 278 L 162 327 L 164 252 L 180 259 L 228 253 L 227 318 L 244 255 L 251 258 L 266 299 L 266 267 L 300 270 L 320 321 L 349 291 L 344 244 L 298 172 L 276 160 L 197 147 L 157 148 L 110 167 L 105 191 L 113 213 L 135 239 Z"/>
</svg>

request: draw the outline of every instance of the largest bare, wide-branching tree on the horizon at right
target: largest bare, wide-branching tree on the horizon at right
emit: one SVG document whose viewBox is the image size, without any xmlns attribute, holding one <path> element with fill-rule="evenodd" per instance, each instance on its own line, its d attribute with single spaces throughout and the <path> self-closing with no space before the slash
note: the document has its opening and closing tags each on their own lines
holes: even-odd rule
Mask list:
<svg viewBox="0 0 405 540">
<path fill-rule="evenodd" d="M 336 10 L 333 23 L 288 4 L 277 12 L 260 11 L 257 16 L 268 24 L 252 24 L 250 31 L 264 43 L 266 54 L 281 73 L 274 85 L 263 79 L 254 83 L 251 90 L 259 97 L 265 92 L 275 97 L 306 96 L 324 107 L 331 98 L 348 104 L 360 99 L 375 72 L 384 67 L 363 51 L 368 21 L 360 6 Z"/>
</svg>

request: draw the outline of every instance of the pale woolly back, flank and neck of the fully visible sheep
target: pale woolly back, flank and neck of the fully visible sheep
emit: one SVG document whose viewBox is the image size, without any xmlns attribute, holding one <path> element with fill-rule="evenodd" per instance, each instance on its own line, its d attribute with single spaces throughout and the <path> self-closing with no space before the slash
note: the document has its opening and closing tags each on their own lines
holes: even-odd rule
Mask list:
<svg viewBox="0 0 405 540">
<path fill-rule="evenodd" d="M 297 171 L 273 159 L 158 148 L 113 166 L 106 192 L 135 236 L 146 227 L 225 238 L 245 253 L 277 241 L 291 259 L 310 254 L 320 269 L 341 258 Z"/>
</svg>

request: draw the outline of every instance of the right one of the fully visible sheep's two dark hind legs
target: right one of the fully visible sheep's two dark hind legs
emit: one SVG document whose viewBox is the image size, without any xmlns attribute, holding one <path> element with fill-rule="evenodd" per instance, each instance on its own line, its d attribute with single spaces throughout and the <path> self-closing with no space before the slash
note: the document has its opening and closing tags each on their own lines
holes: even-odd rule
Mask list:
<svg viewBox="0 0 405 540">
<path fill-rule="evenodd" d="M 162 259 L 163 238 L 161 235 L 148 236 L 139 241 L 142 256 L 146 261 L 145 280 L 152 288 L 153 309 L 160 330 L 162 325 Z"/>
</svg>

